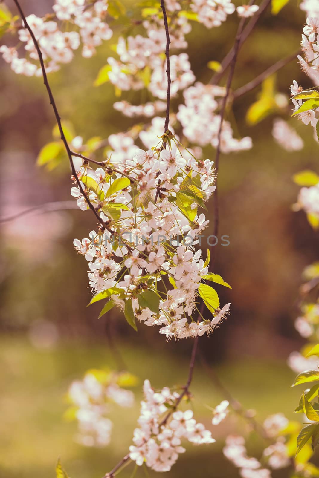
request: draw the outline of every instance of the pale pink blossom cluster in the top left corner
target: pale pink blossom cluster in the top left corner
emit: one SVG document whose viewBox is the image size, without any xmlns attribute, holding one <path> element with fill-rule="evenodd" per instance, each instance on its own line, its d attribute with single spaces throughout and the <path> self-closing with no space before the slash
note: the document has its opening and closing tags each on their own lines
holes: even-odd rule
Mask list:
<svg viewBox="0 0 319 478">
<path fill-rule="evenodd" d="M 56 22 L 51 19 L 54 15 L 40 18 L 32 14 L 26 17 L 41 48 L 48 73 L 58 70 L 61 63 L 69 63 L 73 58 L 73 51 L 77 50 L 81 43 L 82 55 L 88 58 L 96 52 L 96 47 L 103 40 L 109 40 L 112 36 L 112 30 L 105 22 L 107 0 L 95 1 L 90 8 L 87 8 L 84 0 L 56 0 L 53 10 Z M 63 32 L 64 21 L 76 30 Z M 2 45 L 0 52 L 4 60 L 11 64 L 12 70 L 17 74 L 41 76 L 38 54 L 30 33 L 20 28 L 18 35 L 19 41 L 24 43 L 25 56 L 20 58 L 17 48 Z"/>
</svg>

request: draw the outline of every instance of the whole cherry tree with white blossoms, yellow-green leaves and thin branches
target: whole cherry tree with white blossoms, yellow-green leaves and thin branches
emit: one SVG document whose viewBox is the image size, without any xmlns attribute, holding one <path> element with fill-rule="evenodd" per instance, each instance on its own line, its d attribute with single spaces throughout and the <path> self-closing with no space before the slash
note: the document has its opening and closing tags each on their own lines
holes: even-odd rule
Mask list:
<svg viewBox="0 0 319 478">
<path fill-rule="evenodd" d="M 262 85 L 261 94 L 248 109 L 247 120 L 255 123 L 274 111 L 287 115 L 288 101 L 285 95 L 275 92 L 273 74 L 296 59 L 299 52 L 279 60 L 236 91 L 231 85 L 242 44 L 259 17 L 270 3 L 273 14 L 278 13 L 287 0 L 263 0 L 260 5 L 250 1 L 237 8 L 231 0 L 150 1 L 141 8 L 138 19 L 131 19 L 133 27 L 141 32 L 135 36 L 125 32 L 126 10 L 119 0 L 56 0 L 53 11 L 43 18 L 32 13 L 26 16 L 19 0 L 11 3 L 18 15 L 11 13 L 10 5 L 1 4 L 1 33 L 10 39 L 8 44 L 12 36 L 18 36 L 20 43 L 16 47 L 4 43 L 0 52 L 15 73 L 43 77 L 56 120 L 54 141 L 43 147 L 38 163 L 53 168 L 66 158 L 72 173 L 71 195 L 81 210 L 90 210 L 96 219 L 96 230 L 89 232 L 87 238 L 74 239 L 77 252 L 88 261 L 93 294 L 90 304 L 103 301 L 99 317 L 113 307 L 119 308 L 136 331 L 137 324 L 143 323 L 159 327 L 159 333 L 167 340 L 193 341 L 184 387 L 155 391 L 149 380 L 144 380 L 144 400 L 138 426 L 133 431 L 133 445 L 104 478 L 114 477 L 130 462 L 135 462 L 136 467 L 168 471 L 179 454 L 185 452 L 183 444 L 187 441 L 198 445 L 215 442 L 211 431 L 196 421 L 190 409 L 184 410 L 183 404 L 184 399 L 191 400 L 200 337 L 214 332 L 230 310 L 230 304 L 220 305 L 217 291 L 209 285 L 231 288 L 214 270 L 213 244 L 209 241 L 218 240 L 217 174 L 221 153 L 248 150 L 253 142 L 250 137 L 235 138 L 226 117 L 231 102 L 258 85 Z M 302 37 L 305 57 L 298 58 L 303 70 L 318 83 L 318 1 L 303 0 L 300 8 L 307 12 L 307 23 Z M 196 81 L 191 70 L 186 35 L 193 22 L 207 29 L 220 27 L 235 10 L 239 23 L 233 47 L 221 63 L 210 62 L 214 75 L 204 85 Z M 94 55 L 96 48 L 112 37 L 110 23 L 114 22 L 118 22 L 123 34 L 118 38 L 116 54 L 101 66 L 95 86 L 112 83 L 117 97 L 114 109 L 130 118 L 145 120 L 142 125 L 106 139 L 93 137 L 84 142 L 61 120 L 49 74 L 72 61 L 73 51 L 78 48 L 85 58 Z M 171 49 L 174 54 L 170 54 Z M 220 86 L 226 74 L 226 84 Z M 144 88 L 153 101 L 133 105 L 119 100 L 122 91 Z M 180 92 L 184 100 L 178 110 L 172 111 L 170 99 L 178 98 Z M 291 93 L 293 116 L 316 127 L 318 91 L 303 90 L 294 82 Z M 164 117 L 159 116 L 162 113 Z M 303 147 L 297 132 L 282 118 L 274 120 L 273 136 L 287 151 Z M 202 157 L 201 148 L 208 145 L 212 147 L 214 161 Z M 304 186 L 298 207 L 305 209 L 310 223 L 317 228 L 319 176 L 306 171 L 297 174 L 295 180 Z M 207 211 L 210 196 L 214 198 L 214 234 L 205 238 L 209 248 L 202 257 L 197 246 L 202 246 L 201 233 L 209 221 L 207 213 L 201 211 Z M 318 265 L 308 268 L 306 273 L 309 282 L 303 293 L 308 294 L 319 283 Z M 302 297 L 303 315 L 296 326 L 303 337 L 316 337 L 317 309 L 317 298 L 308 302 L 308 295 Z M 318 353 L 317 346 L 309 355 Z M 202 360 L 209 377 L 225 395 L 225 400 L 212 408 L 212 425 L 233 412 L 265 440 L 263 456 L 257 459 L 247 455 L 242 436 L 227 438 L 224 455 L 239 468 L 243 478 L 268 478 L 271 469 L 285 467 L 294 477 L 319 476 L 319 469 L 308 462 L 311 449 L 307 444 L 312 437 L 313 447 L 317 445 L 318 423 L 300 431 L 301 424 L 288 422 L 278 413 L 259 424 Z M 318 380 L 318 370 L 305 372 L 308 361 L 303 355 L 289 358 L 292 368 L 300 372 L 295 384 Z M 88 370 L 82 381 L 71 384 L 71 407 L 67 413 L 77 419 L 77 438 L 84 445 L 105 446 L 110 442 L 110 404 L 131 406 L 134 397 L 127 389 L 134 384 L 135 377 L 129 372 L 112 370 Z M 319 409 L 311 402 L 318 391 L 315 385 L 305 392 L 296 410 L 315 422 L 319 422 Z M 60 462 L 56 471 L 58 478 L 67 476 Z"/>
</svg>

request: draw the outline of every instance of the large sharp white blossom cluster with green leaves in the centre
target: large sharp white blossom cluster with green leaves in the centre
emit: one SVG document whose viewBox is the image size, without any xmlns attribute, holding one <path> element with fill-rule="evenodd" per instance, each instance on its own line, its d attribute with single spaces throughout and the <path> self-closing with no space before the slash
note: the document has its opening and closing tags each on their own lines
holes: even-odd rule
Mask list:
<svg viewBox="0 0 319 478">
<path fill-rule="evenodd" d="M 111 136 L 115 146 L 119 135 Z M 201 250 L 194 250 L 209 222 L 198 207 L 205 207 L 215 190 L 213 162 L 197 160 L 171 133 L 159 143 L 144 151 L 121 137 L 122 149 L 96 170 L 77 158 L 78 179 L 105 227 L 74 245 L 89 262 L 96 294 L 91 302 L 110 297 L 107 307 L 123 308 L 131 325 L 138 319 L 160 326 L 166 338 L 209 335 L 230 305 L 220 309 L 218 294 L 202 282 L 229 287 L 208 273 L 209 257 L 204 263 Z M 71 194 L 88 209 L 77 186 Z M 196 312 L 198 295 L 211 319 Z"/>
</svg>

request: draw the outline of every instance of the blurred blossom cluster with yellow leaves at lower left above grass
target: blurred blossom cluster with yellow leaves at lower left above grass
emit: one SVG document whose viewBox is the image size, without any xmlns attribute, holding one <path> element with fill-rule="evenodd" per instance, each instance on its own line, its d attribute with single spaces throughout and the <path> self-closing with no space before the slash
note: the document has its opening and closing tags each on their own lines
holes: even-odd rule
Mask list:
<svg viewBox="0 0 319 478">
<path fill-rule="evenodd" d="M 74 381 L 68 391 L 71 407 L 66 418 L 78 423 L 77 441 L 86 446 L 105 446 L 110 443 L 112 422 L 108 418 L 110 406 L 132 407 L 132 391 L 122 388 L 135 384 L 127 373 L 106 370 L 88 370 L 82 381 Z"/>
</svg>

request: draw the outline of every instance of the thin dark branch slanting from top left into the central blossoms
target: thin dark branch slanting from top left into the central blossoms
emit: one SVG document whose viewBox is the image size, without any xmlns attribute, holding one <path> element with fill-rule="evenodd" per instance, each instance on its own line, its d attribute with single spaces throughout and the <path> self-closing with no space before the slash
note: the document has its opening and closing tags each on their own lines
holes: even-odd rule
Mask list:
<svg viewBox="0 0 319 478">
<path fill-rule="evenodd" d="M 53 111 L 54 111 L 54 114 L 55 114 L 55 120 L 56 120 L 58 129 L 59 129 L 59 132 L 60 132 L 61 140 L 63 141 L 63 144 L 64 144 L 65 149 L 66 149 L 66 153 L 67 153 L 67 156 L 68 156 L 68 159 L 69 159 L 72 175 L 74 176 L 74 178 L 77 182 L 77 186 L 80 190 L 80 193 L 85 198 L 85 200 L 88 204 L 88 207 L 91 209 L 94 216 L 97 218 L 97 220 L 101 224 L 102 228 L 107 229 L 111 234 L 117 234 L 115 231 L 112 231 L 112 229 L 108 227 L 108 225 L 103 221 L 103 219 L 101 217 L 99 217 L 98 212 L 96 211 L 95 207 L 93 206 L 93 204 L 89 200 L 88 195 L 85 193 L 85 191 L 84 191 L 84 189 L 81 185 L 81 182 L 80 182 L 79 178 L 77 177 L 77 172 L 76 172 L 76 169 L 75 169 L 75 166 L 74 166 L 74 163 L 73 163 L 73 159 L 72 159 L 72 152 L 71 152 L 70 147 L 68 145 L 68 142 L 66 140 L 66 136 L 65 136 L 65 133 L 64 133 L 64 130 L 63 130 L 63 127 L 62 127 L 62 123 L 61 123 L 61 118 L 60 118 L 60 115 L 59 115 L 59 112 L 58 112 L 58 109 L 57 109 L 57 106 L 56 106 L 56 103 L 55 103 L 55 99 L 54 99 L 54 96 L 53 96 L 53 93 L 52 93 L 52 90 L 51 90 L 51 87 L 50 87 L 50 84 L 49 84 L 49 81 L 48 81 L 48 78 L 47 78 L 47 75 L 46 75 L 43 56 L 42 56 L 42 52 L 41 52 L 39 43 L 37 42 L 37 40 L 34 36 L 33 30 L 32 30 L 32 28 L 30 27 L 30 25 L 28 24 L 28 22 L 25 18 L 25 15 L 22 11 L 22 8 L 20 6 L 19 1 L 18 0 L 13 0 L 13 2 L 15 3 L 15 5 L 16 5 L 19 13 L 20 13 L 20 16 L 22 18 L 24 27 L 30 33 L 30 36 L 33 40 L 34 47 L 35 47 L 35 49 L 37 51 L 37 54 L 39 56 L 39 61 L 40 61 L 41 70 L 42 70 L 42 76 L 43 76 L 43 80 L 44 80 L 44 86 L 46 87 L 46 90 L 48 92 L 48 96 L 49 96 L 49 99 L 50 99 L 50 104 L 52 105 L 52 108 L 53 108 Z"/>
</svg>

